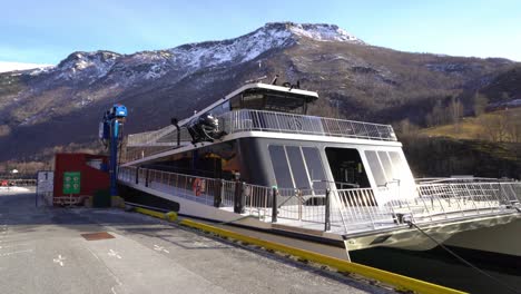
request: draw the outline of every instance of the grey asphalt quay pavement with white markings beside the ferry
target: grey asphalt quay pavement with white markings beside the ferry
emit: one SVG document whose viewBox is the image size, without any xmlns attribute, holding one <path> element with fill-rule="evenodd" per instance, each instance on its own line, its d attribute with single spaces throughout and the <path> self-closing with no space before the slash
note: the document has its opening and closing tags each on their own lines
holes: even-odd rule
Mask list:
<svg viewBox="0 0 521 294">
<path fill-rule="evenodd" d="M 88 241 L 82 234 L 112 238 Z M 1 293 L 389 293 L 119 209 L 35 207 L 0 192 Z"/>
</svg>

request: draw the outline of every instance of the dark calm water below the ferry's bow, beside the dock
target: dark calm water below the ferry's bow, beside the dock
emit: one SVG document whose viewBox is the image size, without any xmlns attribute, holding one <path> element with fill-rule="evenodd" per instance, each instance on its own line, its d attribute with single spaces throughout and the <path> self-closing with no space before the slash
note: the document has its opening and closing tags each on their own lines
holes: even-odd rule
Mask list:
<svg viewBox="0 0 521 294">
<path fill-rule="evenodd" d="M 373 248 L 351 253 L 353 262 L 371 265 L 377 268 L 416 277 L 435 284 L 462 290 L 470 293 L 499 294 L 512 293 L 508 288 L 461 264 L 449 253 L 436 248 L 430 252 L 405 252 L 391 248 Z M 474 262 L 479 268 L 490 275 L 518 288 L 521 293 L 521 268 L 504 267 L 494 262 Z"/>
</svg>

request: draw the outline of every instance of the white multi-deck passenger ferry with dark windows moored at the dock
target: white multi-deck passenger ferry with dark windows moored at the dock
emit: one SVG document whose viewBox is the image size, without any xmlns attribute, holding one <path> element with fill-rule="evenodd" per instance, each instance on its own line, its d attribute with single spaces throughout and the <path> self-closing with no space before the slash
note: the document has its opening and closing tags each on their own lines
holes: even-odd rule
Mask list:
<svg viewBox="0 0 521 294">
<path fill-rule="evenodd" d="M 307 115 L 317 99 L 299 85 L 246 84 L 191 117 L 129 135 L 119 182 L 181 215 L 345 242 L 350 251 L 424 251 L 438 245 L 431 237 L 510 224 L 501 253 L 521 256 L 521 183 L 415 180 L 392 126 Z M 472 241 L 488 238 L 480 234 L 453 245 L 482 249 Z"/>
</svg>

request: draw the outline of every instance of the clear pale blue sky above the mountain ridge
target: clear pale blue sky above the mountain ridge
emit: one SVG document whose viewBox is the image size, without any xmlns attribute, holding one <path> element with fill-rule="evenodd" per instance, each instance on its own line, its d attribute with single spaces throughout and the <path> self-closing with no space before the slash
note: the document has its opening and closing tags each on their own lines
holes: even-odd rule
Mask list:
<svg viewBox="0 0 521 294">
<path fill-rule="evenodd" d="M 0 61 L 132 53 L 238 37 L 266 22 L 335 23 L 375 46 L 521 61 L 521 1 L 2 1 Z"/>
</svg>

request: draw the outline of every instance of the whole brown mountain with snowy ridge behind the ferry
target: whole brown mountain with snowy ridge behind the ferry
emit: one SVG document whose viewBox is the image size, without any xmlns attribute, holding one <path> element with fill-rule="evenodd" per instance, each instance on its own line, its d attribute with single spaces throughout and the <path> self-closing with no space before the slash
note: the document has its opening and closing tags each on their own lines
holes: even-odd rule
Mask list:
<svg viewBox="0 0 521 294">
<path fill-rule="evenodd" d="M 278 74 L 318 91 L 315 115 L 421 124 L 448 96 L 465 100 L 485 89 L 491 100 L 504 92 L 519 97 L 512 86 L 519 85 L 519 68 L 507 59 L 401 52 L 336 26 L 291 22 L 166 50 L 73 52 L 56 67 L 0 74 L 0 161 L 95 141 L 102 112 L 116 101 L 129 109 L 127 133 L 149 130 L 248 79 Z"/>
</svg>

